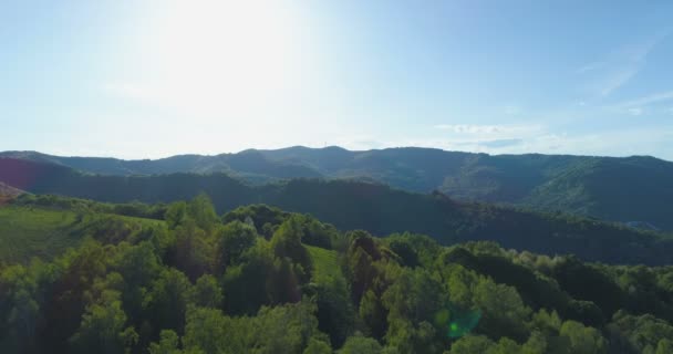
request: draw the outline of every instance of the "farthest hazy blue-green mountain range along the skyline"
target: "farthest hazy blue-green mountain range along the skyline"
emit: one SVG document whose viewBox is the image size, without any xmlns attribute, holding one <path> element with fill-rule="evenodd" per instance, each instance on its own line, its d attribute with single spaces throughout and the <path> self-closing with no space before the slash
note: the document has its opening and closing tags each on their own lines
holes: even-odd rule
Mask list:
<svg viewBox="0 0 673 354">
<path fill-rule="evenodd" d="M 673 163 L 643 156 L 490 156 L 431 148 L 351 152 L 340 147 L 251 149 L 156 160 L 59 157 L 31 152 L 0 153 L 2 156 L 101 175 L 222 171 L 253 184 L 296 177 L 367 179 L 410 191 L 436 189 L 458 200 L 562 210 L 673 230 L 673 209 L 669 207 L 673 200 Z"/>
</svg>

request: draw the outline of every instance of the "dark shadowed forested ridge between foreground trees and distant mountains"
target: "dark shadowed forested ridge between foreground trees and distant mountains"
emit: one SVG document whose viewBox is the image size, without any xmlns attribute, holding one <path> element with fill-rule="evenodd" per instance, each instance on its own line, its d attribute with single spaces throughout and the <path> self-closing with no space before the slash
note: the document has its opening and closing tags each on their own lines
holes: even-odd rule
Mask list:
<svg viewBox="0 0 673 354">
<path fill-rule="evenodd" d="M 51 164 L 0 159 L 0 180 L 34 194 L 101 201 L 170 202 L 205 192 L 219 212 L 267 204 L 311 214 L 340 229 L 429 235 L 443 243 L 494 240 L 506 248 L 547 254 L 573 253 L 610 263 L 667 264 L 673 242 L 598 220 L 455 201 L 442 194 L 413 194 L 384 185 L 296 179 L 248 186 L 226 175 L 93 176 Z"/>
</svg>

